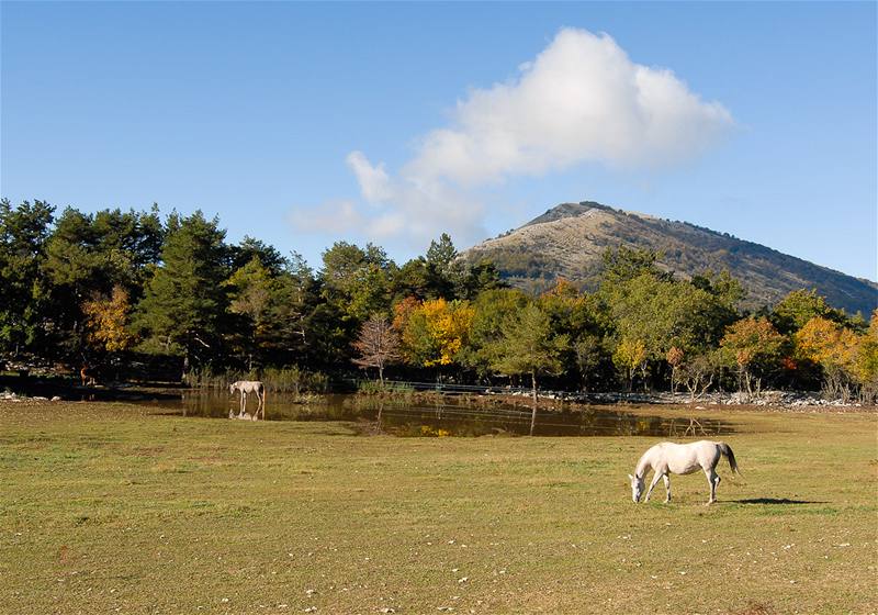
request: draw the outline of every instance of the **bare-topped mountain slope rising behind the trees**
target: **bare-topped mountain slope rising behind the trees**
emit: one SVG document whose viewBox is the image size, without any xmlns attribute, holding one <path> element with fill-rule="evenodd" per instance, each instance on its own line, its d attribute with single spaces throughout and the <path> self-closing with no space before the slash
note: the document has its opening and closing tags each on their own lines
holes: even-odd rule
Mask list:
<svg viewBox="0 0 878 615">
<path fill-rule="evenodd" d="M 728 269 L 747 290 L 745 306 L 773 305 L 788 292 L 817 289 L 826 301 L 866 317 L 878 306 L 878 284 L 801 258 L 702 228 L 595 202 L 563 203 L 524 226 L 462 253 L 492 260 L 513 286 L 540 291 L 555 278 L 594 289 L 601 255 L 626 245 L 661 254 L 658 264 L 680 278 Z"/>
</svg>

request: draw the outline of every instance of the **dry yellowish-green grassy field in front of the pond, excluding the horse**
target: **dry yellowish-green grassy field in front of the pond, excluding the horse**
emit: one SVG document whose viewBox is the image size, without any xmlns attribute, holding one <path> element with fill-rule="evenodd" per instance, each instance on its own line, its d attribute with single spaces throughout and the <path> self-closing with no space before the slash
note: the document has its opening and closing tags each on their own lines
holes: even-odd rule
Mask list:
<svg viewBox="0 0 878 615">
<path fill-rule="evenodd" d="M 875 414 L 724 413 L 743 478 L 631 502 L 655 438 L 0 402 L 0 612 L 875 613 Z"/>
</svg>

